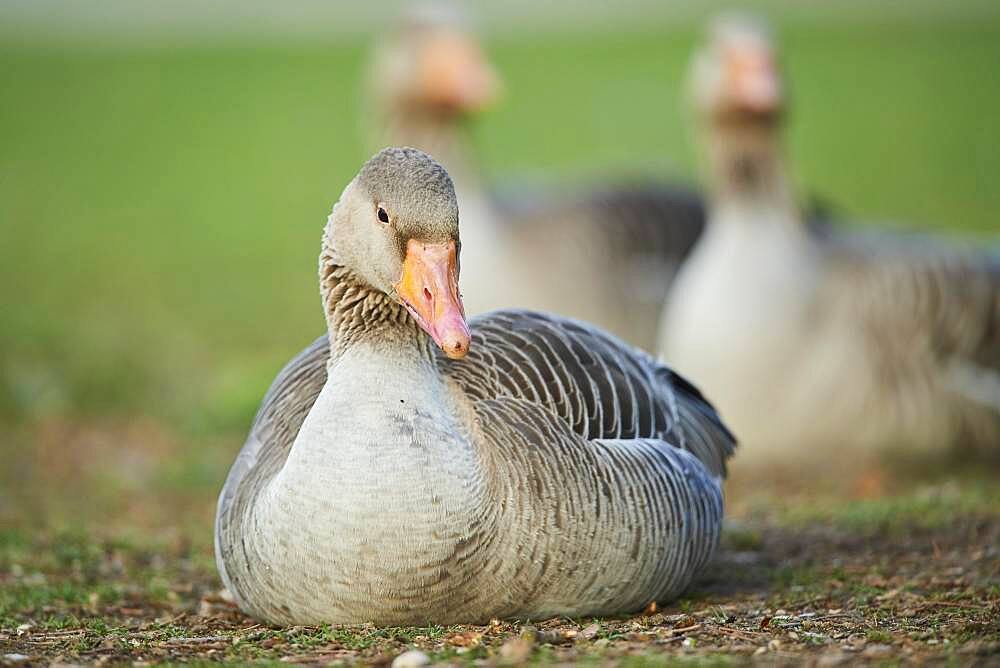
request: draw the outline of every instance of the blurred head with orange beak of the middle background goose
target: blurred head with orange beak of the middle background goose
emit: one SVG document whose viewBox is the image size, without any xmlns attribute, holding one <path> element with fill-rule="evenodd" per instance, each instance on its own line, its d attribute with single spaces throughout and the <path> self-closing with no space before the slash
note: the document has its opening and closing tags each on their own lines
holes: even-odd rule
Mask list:
<svg viewBox="0 0 1000 668">
<path fill-rule="evenodd" d="M 457 9 L 424 5 L 408 12 L 377 46 L 372 86 L 387 115 L 453 119 L 492 104 L 500 80 Z"/>
</svg>

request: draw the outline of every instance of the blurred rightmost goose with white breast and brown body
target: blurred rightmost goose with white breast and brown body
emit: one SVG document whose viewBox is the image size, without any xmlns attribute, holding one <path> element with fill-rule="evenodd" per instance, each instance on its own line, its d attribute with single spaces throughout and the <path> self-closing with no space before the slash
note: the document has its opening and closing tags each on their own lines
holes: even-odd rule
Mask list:
<svg viewBox="0 0 1000 668">
<path fill-rule="evenodd" d="M 692 74 L 711 213 L 668 298 L 662 358 L 698 379 L 751 460 L 1000 445 L 997 256 L 803 225 L 759 24 L 720 21 Z"/>
</svg>

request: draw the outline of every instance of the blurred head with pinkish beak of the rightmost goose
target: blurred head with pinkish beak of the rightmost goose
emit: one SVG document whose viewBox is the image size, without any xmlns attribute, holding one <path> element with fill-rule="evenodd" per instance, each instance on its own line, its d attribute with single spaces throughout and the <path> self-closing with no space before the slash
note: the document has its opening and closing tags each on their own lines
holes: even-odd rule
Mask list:
<svg viewBox="0 0 1000 668">
<path fill-rule="evenodd" d="M 709 123 L 774 124 L 785 95 L 767 26 L 747 16 L 720 17 L 691 66 L 696 112 Z"/>
</svg>

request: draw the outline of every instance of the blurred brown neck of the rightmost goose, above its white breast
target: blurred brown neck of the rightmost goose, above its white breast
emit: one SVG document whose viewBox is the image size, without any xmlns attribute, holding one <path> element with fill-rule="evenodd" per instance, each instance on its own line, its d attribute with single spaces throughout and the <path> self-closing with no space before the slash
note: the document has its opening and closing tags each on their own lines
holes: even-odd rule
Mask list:
<svg viewBox="0 0 1000 668">
<path fill-rule="evenodd" d="M 706 130 L 709 180 L 716 208 L 740 207 L 797 222 L 779 128 L 777 121 L 715 121 Z"/>
</svg>

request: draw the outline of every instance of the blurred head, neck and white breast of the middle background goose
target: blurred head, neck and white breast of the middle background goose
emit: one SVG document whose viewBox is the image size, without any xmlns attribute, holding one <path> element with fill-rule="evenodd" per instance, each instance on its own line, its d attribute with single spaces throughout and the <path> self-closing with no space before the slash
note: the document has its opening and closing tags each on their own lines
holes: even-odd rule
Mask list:
<svg viewBox="0 0 1000 668">
<path fill-rule="evenodd" d="M 468 132 L 502 86 L 467 17 L 447 3 L 410 7 L 376 42 L 368 88 L 370 109 L 363 116 L 372 149 L 419 148 L 452 176 L 462 203 L 469 312 L 518 305 L 516 297 L 526 290 L 518 275 L 515 285 L 500 286 L 495 278 L 517 253 L 483 185 Z"/>
</svg>

